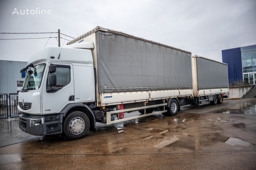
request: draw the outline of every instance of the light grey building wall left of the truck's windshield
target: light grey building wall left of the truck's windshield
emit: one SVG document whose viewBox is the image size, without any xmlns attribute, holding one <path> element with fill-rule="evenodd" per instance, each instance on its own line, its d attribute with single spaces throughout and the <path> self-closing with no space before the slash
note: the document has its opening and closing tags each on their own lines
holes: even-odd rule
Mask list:
<svg viewBox="0 0 256 170">
<path fill-rule="evenodd" d="M 21 78 L 20 70 L 25 68 L 27 62 L 0 60 L 0 93 L 17 93 L 17 81 Z"/>
</svg>

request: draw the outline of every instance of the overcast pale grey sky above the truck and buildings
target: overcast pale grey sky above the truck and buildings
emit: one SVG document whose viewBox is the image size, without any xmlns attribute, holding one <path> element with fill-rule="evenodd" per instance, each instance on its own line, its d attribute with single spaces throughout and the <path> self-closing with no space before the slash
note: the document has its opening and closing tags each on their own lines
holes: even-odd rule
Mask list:
<svg viewBox="0 0 256 170">
<path fill-rule="evenodd" d="M 19 12 L 36 7 L 50 9 L 52 14 L 12 15 L 14 8 Z M 218 61 L 222 61 L 221 50 L 256 44 L 255 18 L 256 0 L 0 1 L 0 32 L 57 32 L 60 29 L 61 33 L 76 38 L 101 26 Z M 49 36 L 0 34 L 0 39 Z M 51 35 L 56 36 L 56 33 Z M 0 40 L 0 60 L 28 61 L 47 40 Z M 58 42 L 50 38 L 46 46 L 58 46 Z"/>
</svg>

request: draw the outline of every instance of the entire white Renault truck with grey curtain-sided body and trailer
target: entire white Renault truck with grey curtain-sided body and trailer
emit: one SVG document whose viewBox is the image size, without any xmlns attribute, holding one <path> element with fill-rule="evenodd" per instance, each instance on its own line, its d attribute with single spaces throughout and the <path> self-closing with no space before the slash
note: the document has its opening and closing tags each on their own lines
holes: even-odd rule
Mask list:
<svg viewBox="0 0 256 170">
<path fill-rule="evenodd" d="M 173 116 L 182 105 L 215 105 L 228 95 L 227 65 L 102 27 L 66 46 L 42 48 L 24 70 L 16 100 L 22 112 L 19 127 L 37 136 L 62 134 L 76 140 L 96 131 L 96 122 Z M 132 111 L 139 114 L 129 117 Z"/>
</svg>

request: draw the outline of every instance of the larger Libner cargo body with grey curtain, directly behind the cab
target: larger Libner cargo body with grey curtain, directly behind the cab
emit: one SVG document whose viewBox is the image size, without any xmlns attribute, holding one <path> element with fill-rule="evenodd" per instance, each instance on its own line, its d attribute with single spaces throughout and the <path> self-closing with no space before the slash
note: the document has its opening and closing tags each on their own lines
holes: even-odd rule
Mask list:
<svg viewBox="0 0 256 170">
<path fill-rule="evenodd" d="M 191 52 L 102 27 L 67 45 L 93 42 L 97 106 L 191 97 Z"/>
</svg>

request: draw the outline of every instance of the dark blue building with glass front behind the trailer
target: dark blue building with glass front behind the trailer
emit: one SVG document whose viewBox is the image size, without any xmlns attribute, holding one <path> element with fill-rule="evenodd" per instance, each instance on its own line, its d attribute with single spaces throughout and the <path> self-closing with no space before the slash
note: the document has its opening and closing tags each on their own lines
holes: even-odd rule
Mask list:
<svg viewBox="0 0 256 170">
<path fill-rule="evenodd" d="M 222 62 L 228 64 L 229 82 L 256 84 L 256 44 L 222 50 Z"/>
</svg>

